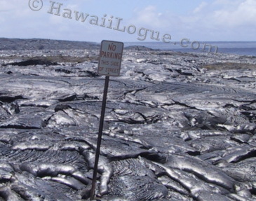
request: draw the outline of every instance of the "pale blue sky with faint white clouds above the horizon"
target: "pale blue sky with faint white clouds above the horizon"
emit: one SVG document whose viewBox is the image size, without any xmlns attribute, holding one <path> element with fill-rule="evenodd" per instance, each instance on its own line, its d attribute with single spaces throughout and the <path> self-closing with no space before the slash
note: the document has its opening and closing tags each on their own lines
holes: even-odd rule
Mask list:
<svg viewBox="0 0 256 201">
<path fill-rule="evenodd" d="M 256 41 L 256 0 L 0 0 L 0 37 Z"/>
</svg>

